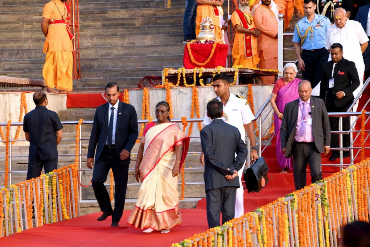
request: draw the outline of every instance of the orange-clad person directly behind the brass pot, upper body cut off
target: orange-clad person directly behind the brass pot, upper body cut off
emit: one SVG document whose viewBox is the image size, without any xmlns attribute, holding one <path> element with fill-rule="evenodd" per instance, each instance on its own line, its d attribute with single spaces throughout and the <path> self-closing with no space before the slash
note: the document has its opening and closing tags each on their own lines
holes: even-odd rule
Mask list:
<svg viewBox="0 0 370 247">
<path fill-rule="evenodd" d="M 198 34 L 201 32 L 202 20 L 205 17 L 209 17 L 213 21 L 216 40 L 222 40 L 219 17 L 220 15 L 223 16 L 223 1 L 224 0 L 196 0 L 196 3 L 198 3 L 195 19 L 195 34 L 197 37 Z"/>
</svg>

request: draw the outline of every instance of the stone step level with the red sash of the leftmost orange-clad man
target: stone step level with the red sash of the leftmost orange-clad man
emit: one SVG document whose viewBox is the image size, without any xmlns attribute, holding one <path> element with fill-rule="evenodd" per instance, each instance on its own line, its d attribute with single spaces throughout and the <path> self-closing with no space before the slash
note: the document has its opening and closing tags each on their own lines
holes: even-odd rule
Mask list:
<svg viewBox="0 0 370 247">
<path fill-rule="evenodd" d="M 5 20 L 0 21 L 1 29 L 36 29 L 41 32 L 40 28 L 41 15 L 36 20 Z M 121 27 L 121 26 L 146 26 L 151 25 L 169 25 L 182 24 L 182 15 L 175 16 L 151 16 L 151 17 L 128 17 L 128 18 L 92 18 L 81 19 L 80 27 Z M 182 31 L 182 28 L 181 28 Z"/>
</svg>

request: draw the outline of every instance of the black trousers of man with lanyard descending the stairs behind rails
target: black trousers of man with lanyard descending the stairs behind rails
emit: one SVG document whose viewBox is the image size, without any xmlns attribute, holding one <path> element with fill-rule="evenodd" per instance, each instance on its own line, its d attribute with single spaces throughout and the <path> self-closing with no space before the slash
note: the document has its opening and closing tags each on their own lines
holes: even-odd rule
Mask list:
<svg viewBox="0 0 370 247">
<path fill-rule="evenodd" d="M 328 112 L 346 112 L 348 109 L 347 107 L 336 107 L 330 106 L 327 108 Z M 330 130 L 338 131 L 339 130 L 339 117 L 329 117 L 330 123 Z M 350 118 L 343 117 L 342 118 L 342 130 L 349 130 L 350 127 Z M 342 135 L 343 136 L 343 146 L 342 147 L 349 147 L 350 146 L 350 136 Z M 339 134 L 332 134 L 332 138 L 330 140 L 330 147 L 339 147 Z M 349 151 L 343 151 L 343 155 L 349 155 Z M 332 150 L 332 156 L 339 157 L 339 150 Z"/>
</svg>

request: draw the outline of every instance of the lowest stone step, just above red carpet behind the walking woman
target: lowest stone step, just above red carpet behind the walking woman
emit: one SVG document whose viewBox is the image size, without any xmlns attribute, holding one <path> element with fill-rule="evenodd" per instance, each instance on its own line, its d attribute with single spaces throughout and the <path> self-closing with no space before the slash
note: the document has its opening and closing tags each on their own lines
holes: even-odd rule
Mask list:
<svg viewBox="0 0 370 247">
<path fill-rule="evenodd" d="M 179 201 L 179 208 L 196 208 L 198 201 L 202 197 L 184 198 L 184 200 Z M 136 199 L 126 199 L 125 200 L 125 210 L 133 210 L 135 208 Z M 111 202 L 112 208 L 114 208 L 114 201 Z M 181 210 L 180 210 L 181 211 Z M 82 200 L 80 202 L 80 215 L 92 214 L 100 212 L 100 207 L 98 201 L 95 199 Z M 120 224 L 125 224 L 120 222 Z"/>
</svg>

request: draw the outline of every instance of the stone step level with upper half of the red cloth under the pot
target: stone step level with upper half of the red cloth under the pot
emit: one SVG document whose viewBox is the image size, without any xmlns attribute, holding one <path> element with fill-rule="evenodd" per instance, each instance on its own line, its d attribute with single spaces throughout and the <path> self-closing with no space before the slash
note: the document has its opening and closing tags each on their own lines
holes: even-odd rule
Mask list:
<svg viewBox="0 0 370 247">
<path fill-rule="evenodd" d="M 81 47 L 81 57 L 123 57 L 157 54 L 181 54 L 184 44 L 156 44 L 148 46 L 96 46 Z M 42 49 L 0 49 L 0 57 L 11 59 L 45 59 Z"/>
</svg>

